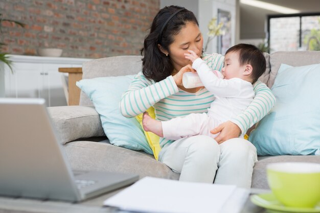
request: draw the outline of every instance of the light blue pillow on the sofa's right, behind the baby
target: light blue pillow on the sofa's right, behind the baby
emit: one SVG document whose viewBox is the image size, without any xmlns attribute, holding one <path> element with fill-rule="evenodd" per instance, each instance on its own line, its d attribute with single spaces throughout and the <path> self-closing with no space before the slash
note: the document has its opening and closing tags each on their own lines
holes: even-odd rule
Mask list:
<svg viewBox="0 0 320 213">
<path fill-rule="evenodd" d="M 320 155 L 320 64 L 281 64 L 277 99 L 250 136 L 258 155 Z"/>
</svg>

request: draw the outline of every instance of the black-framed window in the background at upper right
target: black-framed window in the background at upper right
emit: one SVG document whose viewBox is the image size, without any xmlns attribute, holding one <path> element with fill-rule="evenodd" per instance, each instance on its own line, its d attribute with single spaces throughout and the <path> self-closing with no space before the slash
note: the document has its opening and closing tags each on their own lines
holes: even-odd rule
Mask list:
<svg viewBox="0 0 320 213">
<path fill-rule="evenodd" d="M 320 13 L 268 16 L 270 52 L 320 51 Z"/>
</svg>

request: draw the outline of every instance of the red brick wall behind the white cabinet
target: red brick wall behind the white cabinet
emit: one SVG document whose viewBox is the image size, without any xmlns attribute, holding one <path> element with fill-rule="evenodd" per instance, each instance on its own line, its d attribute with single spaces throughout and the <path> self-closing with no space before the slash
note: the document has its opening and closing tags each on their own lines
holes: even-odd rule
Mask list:
<svg viewBox="0 0 320 213">
<path fill-rule="evenodd" d="M 4 52 L 37 55 L 38 48 L 63 49 L 63 57 L 140 55 L 159 0 L 1 0 Z"/>
</svg>

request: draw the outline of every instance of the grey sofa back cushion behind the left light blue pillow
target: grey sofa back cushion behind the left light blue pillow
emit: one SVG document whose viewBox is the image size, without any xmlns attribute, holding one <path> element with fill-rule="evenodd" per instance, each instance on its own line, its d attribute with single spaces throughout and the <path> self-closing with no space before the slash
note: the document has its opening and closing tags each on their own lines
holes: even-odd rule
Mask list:
<svg viewBox="0 0 320 213">
<path fill-rule="evenodd" d="M 142 70 L 141 59 L 142 56 L 115 56 L 87 61 L 82 66 L 82 79 L 138 74 Z M 93 106 L 93 103 L 81 92 L 79 105 Z"/>
</svg>

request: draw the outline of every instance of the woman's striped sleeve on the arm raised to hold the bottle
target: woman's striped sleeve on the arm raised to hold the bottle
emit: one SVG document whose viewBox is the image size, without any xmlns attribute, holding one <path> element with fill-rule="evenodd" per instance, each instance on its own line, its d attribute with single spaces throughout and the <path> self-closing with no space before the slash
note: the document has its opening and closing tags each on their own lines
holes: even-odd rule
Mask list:
<svg viewBox="0 0 320 213">
<path fill-rule="evenodd" d="M 134 117 L 176 92 L 178 87 L 172 76 L 155 83 L 139 73 L 131 82 L 129 89 L 123 93 L 120 111 L 125 117 Z"/>
</svg>

